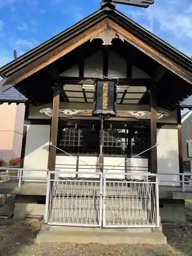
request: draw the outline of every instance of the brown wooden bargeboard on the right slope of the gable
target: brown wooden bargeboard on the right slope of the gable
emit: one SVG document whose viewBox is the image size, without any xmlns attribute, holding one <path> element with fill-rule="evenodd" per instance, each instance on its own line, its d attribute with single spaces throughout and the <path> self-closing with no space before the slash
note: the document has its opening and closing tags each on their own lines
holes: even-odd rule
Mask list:
<svg viewBox="0 0 192 256">
<path fill-rule="evenodd" d="M 159 52 L 155 48 L 148 46 L 145 42 L 130 33 L 128 30 L 125 30 L 121 26 L 117 25 L 113 20 L 109 19 L 108 28 L 114 31 L 117 35 L 123 37 L 127 42 L 139 49 L 141 52 L 156 60 L 160 65 L 164 66 L 185 81 L 192 84 L 191 72 L 178 65 L 172 59 L 165 56 L 163 53 Z"/>
</svg>

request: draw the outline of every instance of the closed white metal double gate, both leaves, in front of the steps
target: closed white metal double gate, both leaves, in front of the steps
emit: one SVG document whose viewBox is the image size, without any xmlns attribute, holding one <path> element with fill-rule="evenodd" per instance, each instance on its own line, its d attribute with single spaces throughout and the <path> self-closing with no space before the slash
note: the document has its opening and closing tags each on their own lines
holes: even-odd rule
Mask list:
<svg viewBox="0 0 192 256">
<path fill-rule="evenodd" d="M 124 173 L 62 172 L 48 174 L 45 222 L 81 227 L 158 227 L 157 176 Z M 77 175 L 77 176 L 76 176 Z M 57 177 L 56 177 L 57 176 Z M 77 177 L 77 178 L 74 178 Z"/>
</svg>

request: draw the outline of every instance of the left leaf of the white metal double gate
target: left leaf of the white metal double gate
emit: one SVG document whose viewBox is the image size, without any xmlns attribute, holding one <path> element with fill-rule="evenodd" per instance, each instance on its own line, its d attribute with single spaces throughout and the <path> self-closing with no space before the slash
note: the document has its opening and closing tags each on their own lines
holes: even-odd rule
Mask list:
<svg viewBox="0 0 192 256">
<path fill-rule="evenodd" d="M 77 174 L 78 178 L 73 178 Z M 49 172 L 45 221 L 52 225 L 100 226 L 102 173 L 63 172 L 63 175 L 66 178 L 51 179 Z"/>
</svg>

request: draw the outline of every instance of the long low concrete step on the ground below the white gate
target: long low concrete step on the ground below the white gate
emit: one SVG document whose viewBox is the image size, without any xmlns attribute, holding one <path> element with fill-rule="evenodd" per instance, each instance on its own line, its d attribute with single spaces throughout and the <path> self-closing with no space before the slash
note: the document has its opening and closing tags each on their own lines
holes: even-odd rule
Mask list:
<svg viewBox="0 0 192 256">
<path fill-rule="evenodd" d="M 64 230 L 64 229 L 63 229 Z M 37 243 L 98 243 L 98 244 L 166 244 L 166 237 L 162 232 L 127 232 L 126 229 L 95 229 L 91 230 L 67 228 L 61 230 L 40 231 Z M 133 230 L 132 230 L 133 231 Z"/>
</svg>

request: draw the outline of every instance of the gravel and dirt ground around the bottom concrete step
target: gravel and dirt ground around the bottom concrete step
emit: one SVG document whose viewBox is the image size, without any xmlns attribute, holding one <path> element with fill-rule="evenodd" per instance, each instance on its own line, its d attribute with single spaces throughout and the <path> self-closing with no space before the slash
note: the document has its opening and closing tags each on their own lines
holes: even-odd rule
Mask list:
<svg viewBox="0 0 192 256">
<path fill-rule="evenodd" d="M 0 224 L 0 256 L 96 256 L 96 255 L 130 255 L 130 256 L 172 256 L 192 255 L 192 217 L 187 214 L 183 225 L 165 224 L 164 233 L 168 239 L 167 246 L 136 245 L 100 245 L 100 244 L 37 244 L 39 231 L 38 220 L 26 219 L 16 221 L 9 219 Z"/>
</svg>

